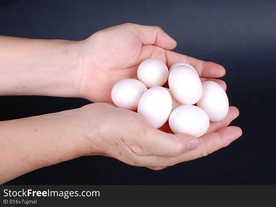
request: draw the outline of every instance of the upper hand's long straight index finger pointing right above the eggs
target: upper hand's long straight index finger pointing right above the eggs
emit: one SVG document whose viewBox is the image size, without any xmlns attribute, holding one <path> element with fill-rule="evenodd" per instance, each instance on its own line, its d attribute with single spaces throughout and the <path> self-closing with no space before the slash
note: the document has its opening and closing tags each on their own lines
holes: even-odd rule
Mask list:
<svg viewBox="0 0 276 207">
<path fill-rule="evenodd" d="M 205 78 L 219 78 L 225 75 L 225 69 L 216 63 L 205 62 L 203 60 L 198 60 L 194 57 L 189 57 L 187 55 L 182 55 L 173 51 L 166 51 L 167 66 L 170 68 L 173 63 L 185 62 L 192 65 L 198 72 L 200 77 Z"/>
</svg>

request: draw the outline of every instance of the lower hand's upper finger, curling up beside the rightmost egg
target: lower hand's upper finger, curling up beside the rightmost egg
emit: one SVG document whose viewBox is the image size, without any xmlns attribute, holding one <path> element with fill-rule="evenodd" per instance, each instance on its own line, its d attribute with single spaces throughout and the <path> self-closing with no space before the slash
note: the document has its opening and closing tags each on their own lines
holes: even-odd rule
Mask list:
<svg viewBox="0 0 276 207">
<path fill-rule="evenodd" d="M 227 127 L 236 117 L 239 116 L 239 110 L 235 106 L 229 106 L 229 111 L 225 119 L 220 122 L 210 122 L 210 127 L 205 134 L 217 132 L 221 128 Z"/>
</svg>

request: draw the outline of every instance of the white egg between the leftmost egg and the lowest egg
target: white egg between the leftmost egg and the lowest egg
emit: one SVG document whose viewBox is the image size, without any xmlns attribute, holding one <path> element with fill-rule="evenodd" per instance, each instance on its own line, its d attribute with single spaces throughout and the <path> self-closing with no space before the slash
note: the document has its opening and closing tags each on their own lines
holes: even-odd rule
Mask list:
<svg viewBox="0 0 276 207">
<path fill-rule="evenodd" d="M 172 112 L 172 98 L 163 87 L 156 86 L 147 90 L 141 97 L 137 113 L 141 114 L 155 128 L 167 122 Z"/>
</svg>

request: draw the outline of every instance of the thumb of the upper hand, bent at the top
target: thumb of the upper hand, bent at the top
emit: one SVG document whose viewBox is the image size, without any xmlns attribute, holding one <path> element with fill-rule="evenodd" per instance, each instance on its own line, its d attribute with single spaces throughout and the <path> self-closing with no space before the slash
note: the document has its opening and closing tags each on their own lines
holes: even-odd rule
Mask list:
<svg viewBox="0 0 276 207">
<path fill-rule="evenodd" d="M 176 47 L 176 41 L 158 26 L 130 24 L 130 27 L 136 28 L 133 31 L 143 45 L 155 45 L 167 50 Z"/>
</svg>

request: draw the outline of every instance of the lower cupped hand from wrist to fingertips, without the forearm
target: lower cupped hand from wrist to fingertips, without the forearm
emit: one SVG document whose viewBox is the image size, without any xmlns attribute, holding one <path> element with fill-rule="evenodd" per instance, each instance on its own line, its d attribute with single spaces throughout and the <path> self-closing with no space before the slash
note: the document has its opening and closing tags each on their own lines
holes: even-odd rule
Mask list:
<svg viewBox="0 0 276 207">
<path fill-rule="evenodd" d="M 206 156 L 226 147 L 242 133 L 238 127 L 227 127 L 239 114 L 234 106 L 229 107 L 223 121 L 211 122 L 208 132 L 199 138 L 160 131 L 140 114 L 114 104 L 95 103 L 78 110 L 85 118 L 82 133 L 88 138 L 82 142 L 86 143 L 82 154 L 105 155 L 153 170 Z"/>
</svg>

